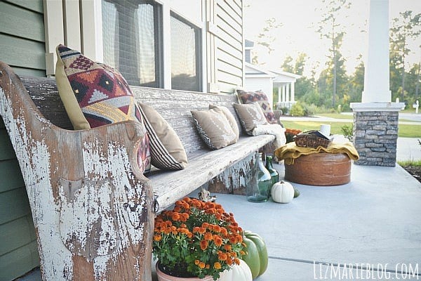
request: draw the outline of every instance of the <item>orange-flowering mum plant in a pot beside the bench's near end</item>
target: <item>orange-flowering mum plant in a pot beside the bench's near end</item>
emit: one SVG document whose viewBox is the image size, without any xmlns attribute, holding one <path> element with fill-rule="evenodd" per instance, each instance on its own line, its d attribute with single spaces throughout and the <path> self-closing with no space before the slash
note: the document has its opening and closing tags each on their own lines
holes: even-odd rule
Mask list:
<svg viewBox="0 0 421 281">
<path fill-rule="evenodd" d="M 240 264 L 243 230 L 220 204 L 185 198 L 155 218 L 153 253 L 159 280 L 168 276 L 218 280 Z M 160 276 L 165 276 L 161 277 Z M 180 280 L 180 279 L 174 279 Z"/>
</svg>

